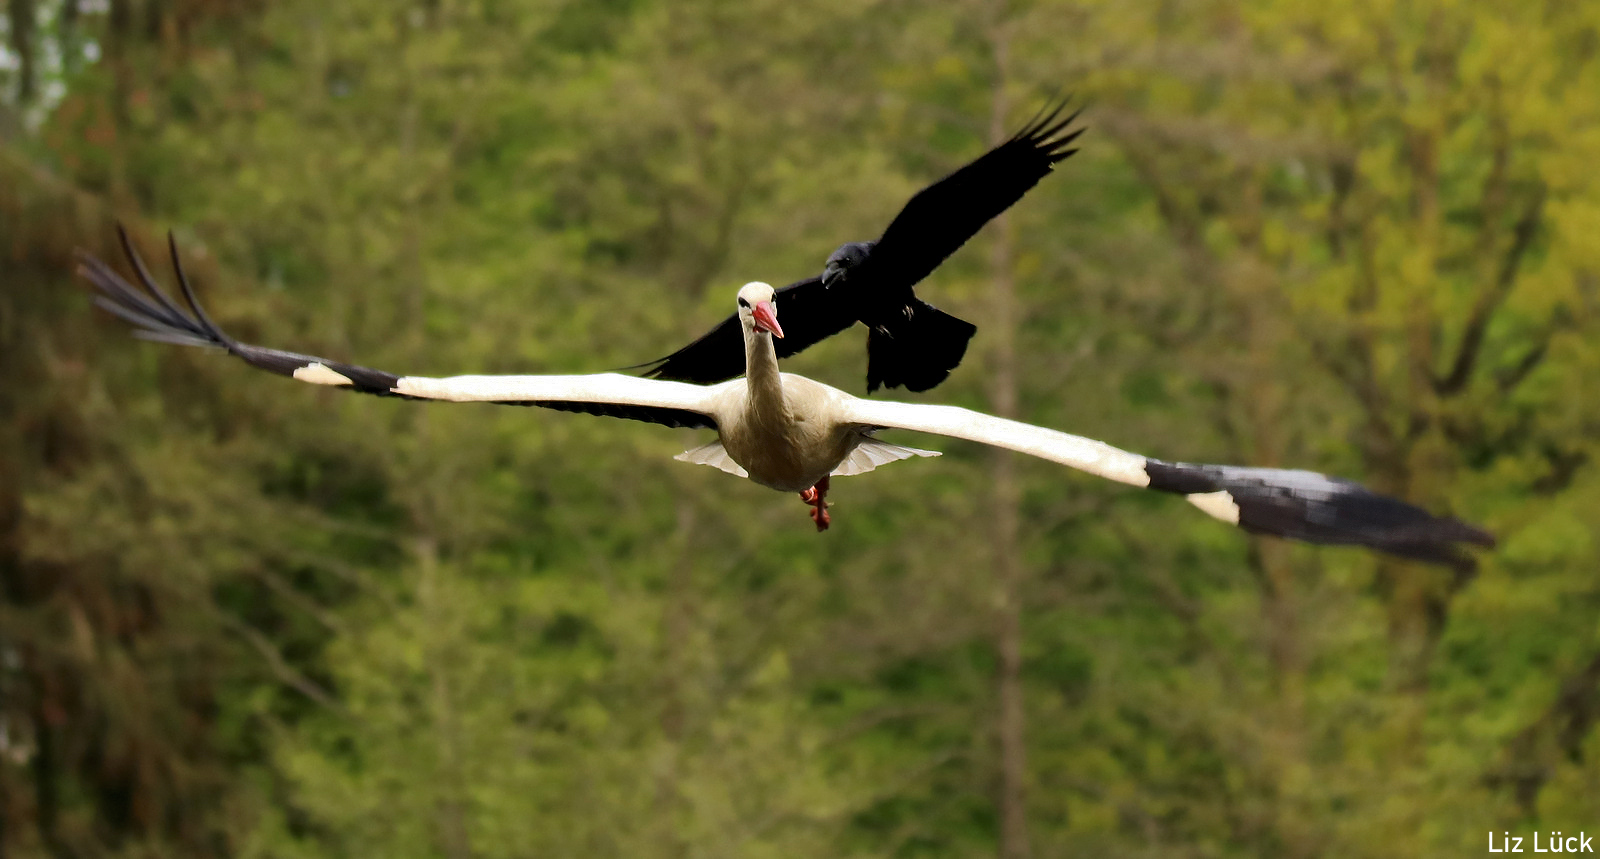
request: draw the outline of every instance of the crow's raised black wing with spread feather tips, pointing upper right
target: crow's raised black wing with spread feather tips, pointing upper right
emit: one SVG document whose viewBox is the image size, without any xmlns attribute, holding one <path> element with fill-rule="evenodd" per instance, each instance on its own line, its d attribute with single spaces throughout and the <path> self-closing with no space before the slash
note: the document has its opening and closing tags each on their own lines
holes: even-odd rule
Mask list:
<svg viewBox="0 0 1600 859">
<path fill-rule="evenodd" d="M 1069 126 L 1078 112 L 1062 117 L 1062 110 L 1064 101 L 1046 107 L 1006 142 L 917 192 L 851 272 L 858 288 L 893 291 L 922 282 L 1058 162 L 1077 152 L 1072 141 L 1083 130 Z"/>
</svg>

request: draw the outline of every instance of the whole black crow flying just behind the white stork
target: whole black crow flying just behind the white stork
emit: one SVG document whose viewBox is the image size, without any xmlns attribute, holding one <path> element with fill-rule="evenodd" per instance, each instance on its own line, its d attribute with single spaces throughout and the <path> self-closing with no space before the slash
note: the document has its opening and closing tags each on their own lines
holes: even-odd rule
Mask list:
<svg viewBox="0 0 1600 859">
<path fill-rule="evenodd" d="M 1040 110 L 1011 139 L 917 192 L 877 242 L 850 242 L 827 258 L 821 277 L 778 290 L 774 306 L 787 336 L 778 357 L 830 338 L 861 320 L 867 326 L 867 394 L 882 387 L 928 390 L 942 382 L 978 331 L 918 299 L 912 286 L 1011 208 L 1077 149 L 1077 112 L 1066 101 Z M 744 374 L 742 328 L 730 315 L 698 341 L 646 366 L 651 379 L 712 384 Z M 634 370 L 634 368 L 629 368 Z"/>
</svg>

